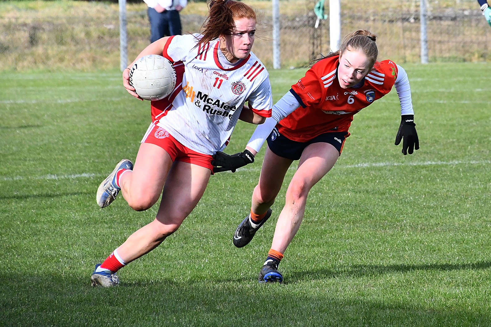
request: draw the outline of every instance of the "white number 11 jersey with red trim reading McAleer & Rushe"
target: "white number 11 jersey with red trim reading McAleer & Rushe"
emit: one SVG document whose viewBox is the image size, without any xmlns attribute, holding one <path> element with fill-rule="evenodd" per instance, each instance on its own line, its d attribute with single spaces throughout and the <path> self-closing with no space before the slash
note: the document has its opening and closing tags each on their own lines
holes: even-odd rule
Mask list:
<svg viewBox="0 0 491 327">
<path fill-rule="evenodd" d="M 152 101 L 152 118 L 188 148 L 214 154 L 227 145 L 246 102 L 256 114 L 270 117 L 273 99 L 268 71 L 254 54 L 231 64 L 218 39 L 197 45 L 200 37 L 176 35 L 167 41 L 163 55 L 177 67 L 184 65 L 184 76 L 168 100 Z"/>
</svg>

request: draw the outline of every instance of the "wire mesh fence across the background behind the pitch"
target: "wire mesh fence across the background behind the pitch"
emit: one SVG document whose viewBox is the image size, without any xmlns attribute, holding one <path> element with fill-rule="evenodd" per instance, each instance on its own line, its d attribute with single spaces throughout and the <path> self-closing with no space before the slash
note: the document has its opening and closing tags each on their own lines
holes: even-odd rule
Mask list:
<svg viewBox="0 0 491 327">
<path fill-rule="evenodd" d="M 378 35 L 380 58 L 398 63 L 420 61 L 419 0 L 341 1 L 341 33 L 369 29 Z M 441 1 L 440 1 L 441 2 Z M 448 0 L 446 7 L 428 0 L 428 56 L 430 62 L 491 60 L 491 30 L 475 0 Z M 280 61 L 300 67 L 329 52 L 329 23 L 316 28 L 316 0 L 280 1 Z M 199 5 L 206 6 L 200 3 Z M 295 5 L 295 8 L 292 6 Z M 202 12 L 206 12 L 206 9 Z M 325 13 L 329 13 L 326 0 Z M 273 66 L 271 2 L 259 10 L 262 23 L 253 51 Z M 198 32 L 205 16 L 182 12 L 183 30 Z M 127 12 L 128 58 L 149 43 L 146 7 Z M 119 67 L 117 4 L 90 3 L 70 14 L 60 11 L 0 13 L 1 69 L 105 69 Z"/>
</svg>

